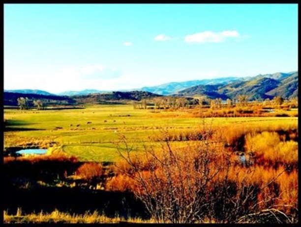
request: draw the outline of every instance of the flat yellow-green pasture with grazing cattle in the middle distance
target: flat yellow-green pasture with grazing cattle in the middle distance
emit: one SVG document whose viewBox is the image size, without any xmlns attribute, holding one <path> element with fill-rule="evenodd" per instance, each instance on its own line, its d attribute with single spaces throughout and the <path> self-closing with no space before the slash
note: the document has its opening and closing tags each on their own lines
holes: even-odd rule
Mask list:
<svg viewBox="0 0 301 227">
<path fill-rule="evenodd" d="M 58 142 L 66 153 L 83 161 L 117 160 L 119 155 L 115 142 L 120 134 L 125 135 L 130 143 L 135 143 L 138 147 L 135 152 L 140 152 L 142 145 L 148 143 L 149 136 L 160 136 L 165 130 L 179 132 L 204 126 L 288 125 L 298 122 L 297 117 L 203 119 L 191 117 L 181 110 L 140 110 L 129 104 L 39 111 L 4 109 L 4 119 L 8 122 L 4 147 L 17 146 L 20 141 L 47 138 Z"/>
</svg>

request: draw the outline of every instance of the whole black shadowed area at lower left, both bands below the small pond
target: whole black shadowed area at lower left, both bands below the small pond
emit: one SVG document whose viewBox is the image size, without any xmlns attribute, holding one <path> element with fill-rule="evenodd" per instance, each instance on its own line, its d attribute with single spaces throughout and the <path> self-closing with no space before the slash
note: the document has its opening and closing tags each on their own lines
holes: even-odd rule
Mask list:
<svg viewBox="0 0 301 227">
<path fill-rule="evenodd" d="M 15 150 L 17 147 L 11 149 Z M 97 210 L 99 214 L 108 217 L 149 218 L 143 202 L 137 200 L 133 193 L 54 186 L 53 183 L 58 179 L 68 183 L 65 177 L 74 174 L 84 163 L 86 162 L 63 157 L 38 160 L 38 156 L 31 161 L 6 160 L 2 169 L 5 191 L 5 198 L 1 201 L 3 209 L 13 215 L 21 207 L 25 214 L 41 210 L 51 213 L 55 209 L 70 214 L 85 214 L 87 211 L 93 213 Z M 103 166 L 108 164 L 110 163 L 103 163 Z M 41 185 L 39 181 L 47 185 Z"/>
</svg>

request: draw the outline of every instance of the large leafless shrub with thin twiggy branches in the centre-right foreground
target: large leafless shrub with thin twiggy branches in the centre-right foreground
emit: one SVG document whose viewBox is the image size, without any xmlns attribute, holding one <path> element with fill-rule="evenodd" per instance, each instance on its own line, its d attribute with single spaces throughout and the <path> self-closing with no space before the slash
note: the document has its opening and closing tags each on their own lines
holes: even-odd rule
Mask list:
<svg viewBox="0 0 301 227">
<path fill-rule="evenodd" d="M 212 143 L 211 127 L 203 129 L 203 139 L 184 148 L 166 139 L 169 132 L 163 131 L 160 148 L 144 146 L 144 155 L 119 135 L 117 150 L 127 166 L 116 166 L 133 179 L 133 193 L 152 218 L 158 223 L 256 223 L 262 216 L 254 221 L 255 213 L 270 210 L 280 220 L 282 211 L 271 210 L 271 196 L 259 200 L 258 193 L 275 185 L 284 171 L 265 184 L 254 183 L 256 166 L 236 168 L 229 153 Z M 279 223 L 292 222 L 283 217 Z"/>
</svg>

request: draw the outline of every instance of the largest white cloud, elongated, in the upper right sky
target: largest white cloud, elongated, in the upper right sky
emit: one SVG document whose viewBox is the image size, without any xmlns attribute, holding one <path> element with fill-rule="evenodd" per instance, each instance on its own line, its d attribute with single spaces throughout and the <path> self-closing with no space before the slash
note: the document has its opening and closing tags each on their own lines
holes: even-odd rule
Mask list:
<svg viewBox="0 0 301 227">
<path fill-rule="evenodd" d="M 236 30 L 225 30 L 221 32 L 203 31 L 192 35 L 186 35 L 187 43 L 221 43 L 229 37 L 240 37 Z"/>
</svg>

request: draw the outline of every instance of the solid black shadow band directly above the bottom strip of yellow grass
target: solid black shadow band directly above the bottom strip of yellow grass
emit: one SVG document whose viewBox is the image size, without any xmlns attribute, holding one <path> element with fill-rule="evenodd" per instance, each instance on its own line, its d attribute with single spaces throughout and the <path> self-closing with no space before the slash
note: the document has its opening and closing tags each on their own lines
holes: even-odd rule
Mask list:
<svg viewBox="0 0 301 227">
<path fill-rule="evenodd" d="M 9 214 L 15 214 L 18 207 L 26 214 L 31 212 L 60 212 L 70 214 L 93 213 L 97 210 L 108 217 L 116 215 L 124 218 L 149 218 L 143 203 L 129 192 L 91 191 L 80 188 L 42 187 L 20 189 L 7 187 L 3 198 L 3 208 Z"/>
</svg>

